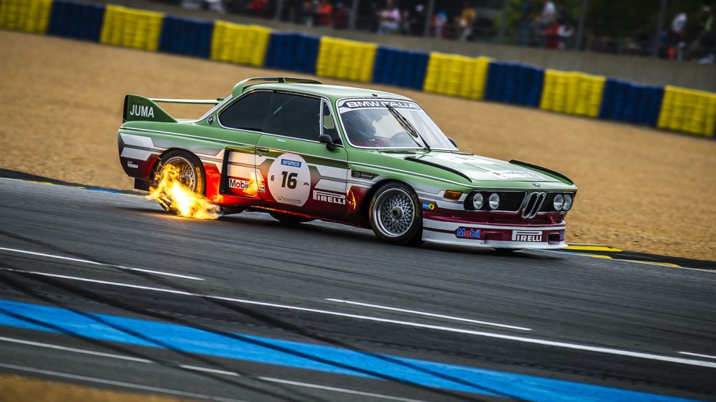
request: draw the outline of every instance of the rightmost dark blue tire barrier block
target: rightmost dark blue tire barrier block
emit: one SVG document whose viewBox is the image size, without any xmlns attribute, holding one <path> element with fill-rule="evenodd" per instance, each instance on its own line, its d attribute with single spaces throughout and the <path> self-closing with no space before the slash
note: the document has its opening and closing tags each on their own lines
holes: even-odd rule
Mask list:
<svg viewBox="0 0 716 402">
<path fill-rule="evenodd" d="M 599 117 L 619 122 L 656 126 L 664 88 L 607 79 Z"/>
</svg>

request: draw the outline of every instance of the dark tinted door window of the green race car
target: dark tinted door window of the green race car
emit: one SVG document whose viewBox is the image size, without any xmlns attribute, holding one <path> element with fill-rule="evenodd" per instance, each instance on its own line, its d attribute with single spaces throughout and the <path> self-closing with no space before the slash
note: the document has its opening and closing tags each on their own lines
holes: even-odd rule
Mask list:
<svg viewBox="0 0 716 402">
<path fill-rule="evenodd" d="M 274 93 L 266 132 L 316 141 L 321 133 L 321 101 L 311 97 Z"/>
</svg>

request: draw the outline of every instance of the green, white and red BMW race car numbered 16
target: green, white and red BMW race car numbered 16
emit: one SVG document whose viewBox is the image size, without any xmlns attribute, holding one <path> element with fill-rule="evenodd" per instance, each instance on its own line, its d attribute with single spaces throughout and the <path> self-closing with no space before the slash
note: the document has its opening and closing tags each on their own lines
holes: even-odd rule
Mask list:
<svg viewBox="0 0 716 402">
<path fill-rule="evenodd" d="M 175 119 L 160 102 L 213 107 Z M 212 100 L 130 94 L 118 142 L 137 189 L 156 191 L 171 168 L 225 213 L 370 227 L 400 245 L 566 247 L 577 190 L 543 167 L 460 152 L 410 98 L 310 79 L 246 79 Z M 167 210 L 179 202 L 158 200 Z"/>
</svg>

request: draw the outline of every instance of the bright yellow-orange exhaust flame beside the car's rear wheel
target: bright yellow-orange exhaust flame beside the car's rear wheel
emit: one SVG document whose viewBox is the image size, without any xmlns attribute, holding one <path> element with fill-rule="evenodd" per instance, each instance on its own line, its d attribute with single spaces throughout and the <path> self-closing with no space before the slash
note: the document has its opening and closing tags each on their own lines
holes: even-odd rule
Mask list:
<svg viewBox="0 0 716 402">
<path fill-rule="evenodd" d="M 156 187 L 150 187 L 147 200 L 157 200 L 165 210 L 178 216 L 195 219 L 218 219 L 221 208 L 213 205 L 203 195 L 193 192 L 181 182 L 178 167 L 165 165 Z"/>
</svg>

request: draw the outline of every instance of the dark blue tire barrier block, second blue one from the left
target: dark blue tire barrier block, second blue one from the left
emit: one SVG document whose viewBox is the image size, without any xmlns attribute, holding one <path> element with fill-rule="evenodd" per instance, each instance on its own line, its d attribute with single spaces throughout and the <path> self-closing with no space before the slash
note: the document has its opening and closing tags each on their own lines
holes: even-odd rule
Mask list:
<svg viewBox="0 0 716 402">
<path fill-rule="evenodd" d="M 213 21 L 164 16 L 159 51 L 208 59 Z"/>
</svg>

